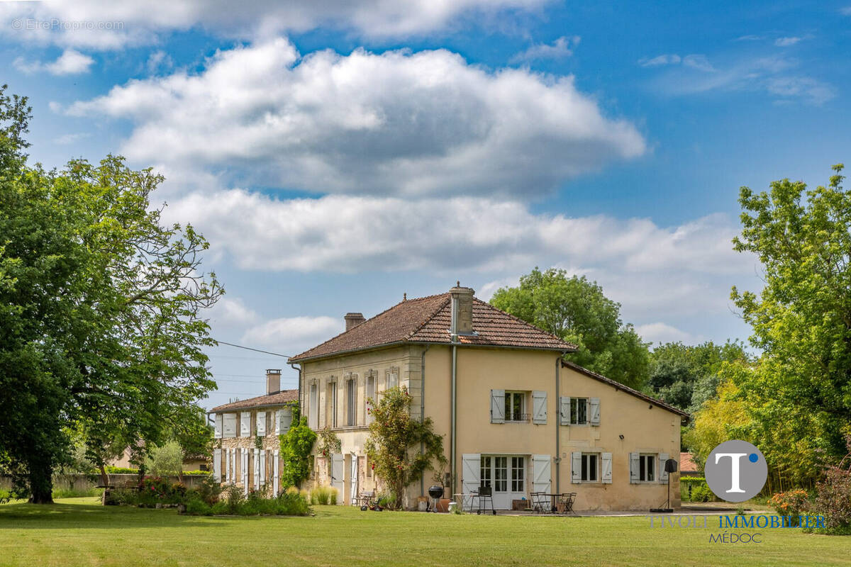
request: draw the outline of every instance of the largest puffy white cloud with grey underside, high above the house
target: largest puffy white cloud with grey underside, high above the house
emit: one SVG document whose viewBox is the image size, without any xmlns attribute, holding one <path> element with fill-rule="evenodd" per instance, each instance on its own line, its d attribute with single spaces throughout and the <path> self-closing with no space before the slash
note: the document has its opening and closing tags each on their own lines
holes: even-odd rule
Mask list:
<svg viewBox="0 0 851 567">
<path fill-rule="evenodd" d="M 646 148 L 573 77 L 491 73 L 443 49 L 300 58 L 283 38 L 66 111 L 129 119 L 122 152 L 140 162 L 319 193 L 534 198 Z"/>
</svg>

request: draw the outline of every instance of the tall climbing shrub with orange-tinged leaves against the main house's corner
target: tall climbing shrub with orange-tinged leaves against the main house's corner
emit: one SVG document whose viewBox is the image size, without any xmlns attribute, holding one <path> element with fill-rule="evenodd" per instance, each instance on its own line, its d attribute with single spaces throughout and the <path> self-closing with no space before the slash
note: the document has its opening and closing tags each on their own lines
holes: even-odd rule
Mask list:
<svg viewBox="0 0 851 567">
<path fill-rule="evenodd" d="M 411 417 L 411 400 L 407 388 L 385 390 L 377 404 L 367 400 L 373 417 L 364 444 L 367 458 L 396 495 L 397 509 L 403 506 L 405 488 L 431 468 L 432 461 L 446 464 L 443 435 L 434 433 L 431 417 L 423 421 Z"/>
</svg>

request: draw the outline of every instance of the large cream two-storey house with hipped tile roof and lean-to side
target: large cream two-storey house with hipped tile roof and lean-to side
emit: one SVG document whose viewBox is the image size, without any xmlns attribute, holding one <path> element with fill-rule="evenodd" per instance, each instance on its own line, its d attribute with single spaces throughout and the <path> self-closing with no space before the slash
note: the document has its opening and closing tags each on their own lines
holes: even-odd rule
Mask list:
<svg viewBox="0 0 851 567">
<path fill-rule="evenodd" d="M 576 348 L 473 295 L 468 287 L 403 299 L 292 357 L 311 428 L 331 428 L 342 450 L 315 456 L 313 481 L 351 502 L 380 488 L 364 451 L 368 400 L 403 386 L 414 417 L 443 435 L 448 496 L 493 489 L 511 508 L 530 492 L 576 492 L 575 509 L 648 509 L 667 498 L 665 462 L 688 415 L 563 359 Z M 432 473 L 408 488 L 413 507 Z M 679 505 L 677 473 L 671 505 Z M 460 496 L 456 496 L 460 497 Z"/>
</svg>

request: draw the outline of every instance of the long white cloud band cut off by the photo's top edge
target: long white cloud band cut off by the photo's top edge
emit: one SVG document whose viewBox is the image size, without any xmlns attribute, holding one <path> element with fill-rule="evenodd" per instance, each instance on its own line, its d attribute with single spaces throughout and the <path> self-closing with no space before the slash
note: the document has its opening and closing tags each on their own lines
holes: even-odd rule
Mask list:
<svg viewBox="0 0 851 567">
<path fill-rule="evenodd" d="M 0 34 L 20 42 L 114 49 L 201 28 L 224 37 L 268 37 L 332 27 L 363 37 L 422 35 L 463 18 L 534 13 L 548 0 L 49 0 L 0 3 Z"/>
</svg>

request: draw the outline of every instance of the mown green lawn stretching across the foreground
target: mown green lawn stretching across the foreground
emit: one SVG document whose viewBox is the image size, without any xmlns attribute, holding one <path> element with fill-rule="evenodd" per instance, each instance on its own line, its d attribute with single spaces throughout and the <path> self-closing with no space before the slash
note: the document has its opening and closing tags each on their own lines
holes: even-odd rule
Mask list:
<svg viewBox="0 0 851 567">
<path fill-rule="evenodd" d="M 0 565 L 847 565 L 851 537 L 761 531 L 760 544 L 710 543 L 720 530 L 646 518 L 361 512 L 310 518 L 197 518 L 174 509 L 0 506 Z M 717 525 L 717 518 L 714 519 Z M 712 524 L 712 519 L 710 519 Z"/>
</svg>

